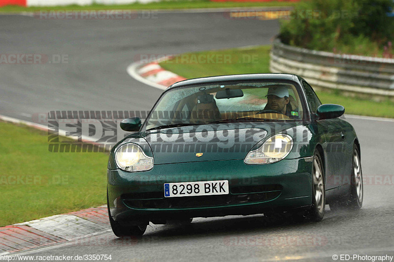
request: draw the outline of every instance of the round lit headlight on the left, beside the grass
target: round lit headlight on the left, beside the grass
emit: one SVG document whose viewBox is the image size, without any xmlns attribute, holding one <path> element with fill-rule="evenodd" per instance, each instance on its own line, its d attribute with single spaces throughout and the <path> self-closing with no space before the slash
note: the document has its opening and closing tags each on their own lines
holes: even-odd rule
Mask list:
<svg viewBox="0 0 394 262">
<path fill-rule="evenodd" d="M 136 144 L 124 144 L 115 152 L 116 165 L 128 172 L 147 171 L 153 168 L 153 157 L 147 156 Z"/>
</svg>

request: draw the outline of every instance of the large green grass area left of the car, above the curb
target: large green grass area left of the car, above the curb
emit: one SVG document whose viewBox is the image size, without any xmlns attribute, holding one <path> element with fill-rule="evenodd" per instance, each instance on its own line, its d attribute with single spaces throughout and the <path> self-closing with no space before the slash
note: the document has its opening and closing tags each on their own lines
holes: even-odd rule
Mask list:
<svg viewBox="0 0 394 262">
<path fill-rule="evenodd" d="M 0 226 L 106 203 L 107 154 L 49 152 L 47 133 L 24 125 L 0 134 Z"/>
</svg>

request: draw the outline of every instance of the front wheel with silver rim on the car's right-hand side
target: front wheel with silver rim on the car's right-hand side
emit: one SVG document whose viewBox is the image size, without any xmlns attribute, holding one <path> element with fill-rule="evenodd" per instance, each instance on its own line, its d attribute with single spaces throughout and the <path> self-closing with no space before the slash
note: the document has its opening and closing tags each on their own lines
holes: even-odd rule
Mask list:
<svg viewBox="0 0 394 262">
<path fill-rule="evenodd" d="M 323 161 L 320 153 L 315 149 L 312 162 L 312 206 L 307 212 L 307 218 L 322 221 L 326 205 L 326 185 Z"/>
</svg>

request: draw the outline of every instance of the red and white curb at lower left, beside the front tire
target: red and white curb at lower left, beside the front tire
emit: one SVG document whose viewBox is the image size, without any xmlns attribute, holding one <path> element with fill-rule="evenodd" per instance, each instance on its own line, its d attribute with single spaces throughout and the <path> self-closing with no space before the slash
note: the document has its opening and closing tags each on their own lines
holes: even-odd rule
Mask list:
<svg viewBox="0 0 394 262">
<path fill-rule="evenodd" d="M 0 255 L 65 243 L 110 230 L 106 205 L 0 227 Z"/>
</svg>

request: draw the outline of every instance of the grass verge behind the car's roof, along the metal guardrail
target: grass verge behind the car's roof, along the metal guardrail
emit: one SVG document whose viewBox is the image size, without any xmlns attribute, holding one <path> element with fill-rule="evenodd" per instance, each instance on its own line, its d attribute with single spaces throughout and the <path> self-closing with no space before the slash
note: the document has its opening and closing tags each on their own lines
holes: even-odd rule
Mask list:
<svg viewBox="0 0 394 262">
<path fill-rule="evenodd" d="M 213 50 L 183 54 L 160 65 L 185 78 L 197 78 L 230 74 L 269 73 L 270 46 L 258 46 L 247 49 Z M 217 63 L 198 63 L 198 59 L 214 56 Z M 220 58 L 229 56 L 228 63 Z M 247 59 L 252 59 L 250 62 Z M 214 60 L 215 62 L 216 60 Z M 322 103 L 339 104 L 345 107 L 346 114 L 361 116 L 380 116 L 394 118 L 394 103 L 390 101 L 375 102 L 358 97 L 348 97 L 334 92 L 316 90 Z"/>
</svg>

